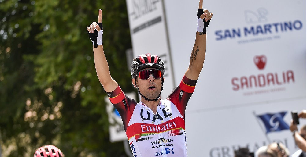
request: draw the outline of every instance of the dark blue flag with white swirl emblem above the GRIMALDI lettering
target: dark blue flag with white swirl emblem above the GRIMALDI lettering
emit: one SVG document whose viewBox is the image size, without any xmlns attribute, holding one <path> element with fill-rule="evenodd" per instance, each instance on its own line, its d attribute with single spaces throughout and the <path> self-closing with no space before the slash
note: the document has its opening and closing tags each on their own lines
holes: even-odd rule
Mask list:
<svg viewBox="0 0 307 157">
<path fill-rule="evenodd" d="M 279 112 L 275 114 L 262 114 L 258 117 L 262 120 L 266 133 L 289 129 L 289 125 L 283 120 L 287 112 Z"/>
</svg>

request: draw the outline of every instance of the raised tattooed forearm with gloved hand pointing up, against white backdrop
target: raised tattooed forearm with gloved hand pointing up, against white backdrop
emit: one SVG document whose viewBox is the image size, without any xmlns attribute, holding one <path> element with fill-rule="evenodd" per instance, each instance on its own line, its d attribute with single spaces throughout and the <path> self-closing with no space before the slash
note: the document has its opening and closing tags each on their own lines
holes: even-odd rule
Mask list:
<svg viewBox="0 0 307 157">
<path fill-rule="evenodd" d="M 192 49 L 190 65 L 185 72 L 185 76 L 191 80 L 197 80 L 201 69 L 203 69 L 206 55 L 206 28 L 212 18 L 212 13 L 207 9 L 203 9 L 203 0 L 200 0 L 197 12 L 197 31 L 195 44 Z"/>
</svg>

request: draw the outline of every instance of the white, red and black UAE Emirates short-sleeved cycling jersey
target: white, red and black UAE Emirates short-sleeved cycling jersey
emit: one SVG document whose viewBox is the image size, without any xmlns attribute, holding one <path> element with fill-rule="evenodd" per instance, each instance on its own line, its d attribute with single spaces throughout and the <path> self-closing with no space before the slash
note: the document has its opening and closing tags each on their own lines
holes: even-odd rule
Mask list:
<svg viewBox="0 0 307 157">
<path fill-rule="evenodd" d="M 134 157 L 186 157 L 185 108 L 196 80 L 183 77 L 180 85 L 161 100 L 157 113 L 136 103 L 120 87 L 107 93 L 118 110 Z"/>
</svg>

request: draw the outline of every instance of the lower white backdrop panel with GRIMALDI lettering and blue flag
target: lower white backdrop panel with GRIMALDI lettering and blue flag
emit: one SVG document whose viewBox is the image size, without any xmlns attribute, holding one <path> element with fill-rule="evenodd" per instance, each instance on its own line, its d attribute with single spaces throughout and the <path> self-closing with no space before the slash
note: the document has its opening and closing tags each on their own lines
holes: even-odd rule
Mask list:
<svg viewBox="0 0 307 157">
<path fill-rule="evenodd" d="M 185 116 L 188 154 L 233 157 L 238 148 L 247 147 L 255 152 L 259 147 L 275 141 L 285 144 L 293 154 L 298 148 L 291 131 L 285 129 L 282 123 L 290 125 L 291 110 L 303 110 L 306 107 L 301 105 L 303 103 L 306 104 L 306 100 L 289 99 L 188 113 Z M 271 114 L 272 117 L 263 122 L 258 116 L 265 114 Z M 300 119 L 297 127 L 301 128 L 305 124 L 306 120 Z"/>
</svg>

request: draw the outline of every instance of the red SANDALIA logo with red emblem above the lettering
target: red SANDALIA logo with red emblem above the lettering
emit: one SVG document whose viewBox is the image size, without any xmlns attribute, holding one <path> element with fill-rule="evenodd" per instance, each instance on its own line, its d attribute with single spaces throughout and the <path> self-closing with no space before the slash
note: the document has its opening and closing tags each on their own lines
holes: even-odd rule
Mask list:
<svg viewBox="0 0 307 157">
<path fill-rule="evenodd" d="M 266 62 L 266 57 L 261 55 L 262 59 L 259 62 L 255 62 L 258 69 L 263 69 Z M 255 56 L 257 58 L 257 56 Z M 258 57 L 259 58 L 259 57 Z M 265 59 L 264 59 L 265 58 Z M 264 61 L 265 60 L 265 61 Z M 233 77 L 231 79 L 232 90 L 239 91 L 243 89 L 251 88 L 263 88 L 267 86 L 278 86 L 294 83 L 294 72 L 292 70 L 282 71 L 280 73 L 266 73 L 242 77 Z"/>
</svg>

